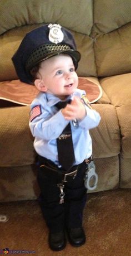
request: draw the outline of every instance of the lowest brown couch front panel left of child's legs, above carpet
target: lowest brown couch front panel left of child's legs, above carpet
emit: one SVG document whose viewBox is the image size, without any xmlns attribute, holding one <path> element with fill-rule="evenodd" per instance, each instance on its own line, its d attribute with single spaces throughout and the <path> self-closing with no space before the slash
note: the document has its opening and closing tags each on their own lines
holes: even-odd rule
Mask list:
<svg viewBox="0 0 131 256">
<path fill-rule="evenodd" d="M 34 200 L 39 196 L 36 165 L 0 167 L 0 201 Z"/>
</svg>

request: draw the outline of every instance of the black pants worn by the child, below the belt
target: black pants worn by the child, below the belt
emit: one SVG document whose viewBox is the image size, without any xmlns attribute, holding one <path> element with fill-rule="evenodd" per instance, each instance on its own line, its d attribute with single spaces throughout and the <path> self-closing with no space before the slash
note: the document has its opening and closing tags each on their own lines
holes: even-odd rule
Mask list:
<svg viewBox="0 0 131 256">
<path fill-rule="evenodd" d="M 57 173 L 44 166 L 38 171 L 38 184 L 41 190 L 39 202 L 47 226 L 52 231 L 82 226 L 83 209 L 87 199 L 84 187 L 85 162 L 78 166 L 77 176 L 64 183 L 64 203 L 59 204 L 60 190 L 57 186 Z"/>
</svg>

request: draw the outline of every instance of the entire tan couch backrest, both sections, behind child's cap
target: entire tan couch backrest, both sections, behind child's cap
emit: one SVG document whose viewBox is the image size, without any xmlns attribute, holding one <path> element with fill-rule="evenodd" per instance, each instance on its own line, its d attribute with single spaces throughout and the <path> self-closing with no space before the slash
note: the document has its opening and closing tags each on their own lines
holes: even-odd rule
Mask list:
<svg viewBox="0 0 131 256">
<path fill-rule="evenodd" d="M 1 0 L 0 14 L 0 81 L 18 78 L 11 58 L 26 33 L 45 23 L 73 33 L 79 76 L 131 72 L 130 0 Z"/>
</svg>

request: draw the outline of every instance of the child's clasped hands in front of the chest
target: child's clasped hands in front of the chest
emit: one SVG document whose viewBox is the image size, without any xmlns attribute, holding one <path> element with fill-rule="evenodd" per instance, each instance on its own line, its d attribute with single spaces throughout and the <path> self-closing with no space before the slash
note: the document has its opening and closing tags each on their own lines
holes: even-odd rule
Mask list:
<svg viewBox="0 0 131 256">
<path fill-rule="evenodd" d="M 82 120 L 86 115 L 86 110 L 84 104 L 75 96 L 72 102 L 62 109 L 62 114 L 69 121 L 74 119 Z"/>
</svg>

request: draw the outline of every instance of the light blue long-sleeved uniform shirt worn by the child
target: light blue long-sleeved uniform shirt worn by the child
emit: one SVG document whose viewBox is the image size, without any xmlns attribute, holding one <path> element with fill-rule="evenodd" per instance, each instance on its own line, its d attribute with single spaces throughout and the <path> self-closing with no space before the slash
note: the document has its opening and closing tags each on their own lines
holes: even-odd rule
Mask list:
<svg viewBox="0 0 131 256">
<path fill-rule="evenodd" d="M 75 93 L 69 95 L 67 99 L 73 99 L 74 96 L 81 98 L 85 95 L 85 91 L 76 89 Z M 57 152 L 57 138 L 63 132 L 63 129 L 69 123 L 61 112 L 54 105 L 60 101 L 53 94 L 39 93 L 37 98 L 33 100 L 31 109 L 39 105 L 41 114 L 30 120 L 29 127 L 34 139 L 34 149 L 43 157 L 51 160 L 59 166 Z M 72 139 L 74 147 L 75 162 L 74 165 L 82 163 L 85 158 L 92 155 L 92 139 L 89 129 L 97 127 L 100 122 L 100 115 L 94 109 L 90 109 L 85 105 L 87 115 L 78 125 L 70 122 L 72 129 Z"/>
</svg>

